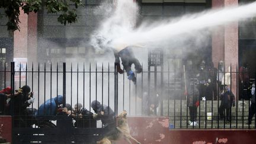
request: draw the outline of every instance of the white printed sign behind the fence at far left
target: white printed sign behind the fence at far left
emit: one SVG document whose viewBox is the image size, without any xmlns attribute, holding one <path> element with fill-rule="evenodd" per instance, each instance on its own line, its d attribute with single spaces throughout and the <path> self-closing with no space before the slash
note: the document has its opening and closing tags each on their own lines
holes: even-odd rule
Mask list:
<svg viewBox="0 0 256 144">
<path fill-rule="evenodd" d="M 14 58 L 15 62 L 15 81 L 25 81 L 25 68 L 27 65 L 27 58 Z"/>
</svg>

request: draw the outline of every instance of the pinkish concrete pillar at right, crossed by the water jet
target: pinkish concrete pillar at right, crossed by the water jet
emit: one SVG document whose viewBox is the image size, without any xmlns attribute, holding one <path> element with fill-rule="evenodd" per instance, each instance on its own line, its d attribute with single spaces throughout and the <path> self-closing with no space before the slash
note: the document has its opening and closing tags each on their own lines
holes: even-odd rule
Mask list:
<svg viewBox="0 0 256 144">
<path fill-rule="evenodd" d="M 212 7 L 228 7 L 238 5 L 238 0 L 212 0 Z M 226 71 L 229 66 L 231 71 L 236 72 L 236 64 L 238 64 L 238 22 L 226 24 L 217 27 L 212 34 L 212 60 L 217 68 L 217 62 L 223 60 L 225 62 Z M 236 74 L 232 75 L 232 92 L 236 95 Z M 230 87 L 230 85 L 229 85 Z"/>
</svg>

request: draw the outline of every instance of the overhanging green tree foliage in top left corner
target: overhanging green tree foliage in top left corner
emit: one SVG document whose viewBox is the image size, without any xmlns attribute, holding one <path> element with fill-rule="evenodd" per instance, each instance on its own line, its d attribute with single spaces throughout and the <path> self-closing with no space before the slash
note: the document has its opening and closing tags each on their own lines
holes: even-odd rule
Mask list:
<svg viewBox="0 0 256 144">
<path fill-rule="evenodd" d="M 75 8 L 71 8 L 75 5 Z M 0 8 L 4 8 L 5 15 L 8 17 L 8 30 L 20 30 L 19 16 L 20 8 L 25 14 L 37 12 L 39 9 L 46 8 L 48 13 L 57 14 L 57 21 L 61 24 L 75 23 L 77 20 L 76 9 L 82 5 L 81 0 L 0 0 Z"/>
</svg>

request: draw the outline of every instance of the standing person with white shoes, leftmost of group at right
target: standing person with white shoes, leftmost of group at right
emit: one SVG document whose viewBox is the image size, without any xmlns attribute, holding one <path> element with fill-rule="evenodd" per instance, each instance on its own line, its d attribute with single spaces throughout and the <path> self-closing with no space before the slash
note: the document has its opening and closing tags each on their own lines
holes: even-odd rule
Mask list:
<svg viewBox="0 0 256 144">
<path fill-rule="evenodd" d="M 194 87 L 194 85 L 191 85 L 191 87 L 188 87 L 188 92 L 185 92 L 187 94 L 187 105 L 190 112 L 190 121 L 188 121 L 188 124 L 190 126 L 197 126 L 197 107 L 199 107 L 199 90 Z"/>
</svg>

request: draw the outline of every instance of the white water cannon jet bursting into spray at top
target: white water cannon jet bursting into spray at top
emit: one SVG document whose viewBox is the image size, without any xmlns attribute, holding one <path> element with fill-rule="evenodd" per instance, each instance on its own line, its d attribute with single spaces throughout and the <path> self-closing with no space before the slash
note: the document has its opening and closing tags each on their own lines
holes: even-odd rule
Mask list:
<svg viewBox="0 0 256 144">
<path fill-rule="evenodd" d="M 113 15 L 103 21 L 101 28 L 92 36 L 92 41 L 101 38 L 100 48 L 114 47 L 121 50 L 126 46 L 162 43 L 181 34 L 193 33 L 217 25 L 245 20 L 256 15 L 256 2 L 239 7 L 227 7 L 185 15 L 179 20 L 157 21 L 155 24 L 142 24 L 135 28 L 138 7 L 132 1 L 117 1 Z M 96 37 L 96 39 L 95 39 Z M 96 46 L 98 44 L 92 43 Z"/>
</svg>

